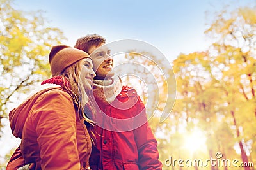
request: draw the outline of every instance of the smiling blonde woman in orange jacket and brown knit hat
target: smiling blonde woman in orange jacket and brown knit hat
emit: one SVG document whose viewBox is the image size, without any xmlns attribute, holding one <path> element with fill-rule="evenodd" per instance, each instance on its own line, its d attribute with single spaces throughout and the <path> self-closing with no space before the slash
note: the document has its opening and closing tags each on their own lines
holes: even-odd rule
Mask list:
<svg viewBox="0 0 256 170">
<path fill-rule="evenodd" d="M 10 112 L 12 132 L 22 140 L 6 169 L 30 163 L 35 163 L 36 170 L 90 169 L 93 122 L 85 113 L 93 114 L 92 59 L 86 52 L 57 45 L 51 49 L 49 62 L 52 78 Z M 20 154 L 23 163 L 17 159 Z"/>
</svg>

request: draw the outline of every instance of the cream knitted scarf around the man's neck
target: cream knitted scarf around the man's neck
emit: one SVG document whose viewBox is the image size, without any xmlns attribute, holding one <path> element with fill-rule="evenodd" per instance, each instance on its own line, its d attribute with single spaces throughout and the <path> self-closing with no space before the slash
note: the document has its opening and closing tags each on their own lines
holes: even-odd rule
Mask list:
<svg viewBox="0 0 256 170">
<path fill-rule="evenodd" d="M 122 90 L 122 80 L 113 76 L 108 80 L 93 80 L 93 94 L 105 104 L 112 103 Z"/>
</svg>

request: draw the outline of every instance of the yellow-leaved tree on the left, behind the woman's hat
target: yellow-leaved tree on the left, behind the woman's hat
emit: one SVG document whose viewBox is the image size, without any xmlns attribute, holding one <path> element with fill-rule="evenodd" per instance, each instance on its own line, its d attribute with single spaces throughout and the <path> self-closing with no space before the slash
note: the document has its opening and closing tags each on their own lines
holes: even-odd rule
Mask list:
<svg viewBox="0 0 256 170">
<path fill-rule="evenodd" d="M 12 7 L 12 0 L 0 2 L 1 129 L 8 104 L 19 99 L 19 93 L 26 92 L 29 85 L 50 76 L 49 50 L 66 38 L 60 29 L 47 27 L 42 11 L 19 11 Z"/>
</svg>

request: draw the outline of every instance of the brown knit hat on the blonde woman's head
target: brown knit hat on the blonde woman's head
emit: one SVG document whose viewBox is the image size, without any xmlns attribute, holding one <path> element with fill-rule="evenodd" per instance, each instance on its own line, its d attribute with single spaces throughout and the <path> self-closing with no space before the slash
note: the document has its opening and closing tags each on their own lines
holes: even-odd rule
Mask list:
<svg viewBox="0 0 256 170">
<path fill-rule="evenodd" d="M 90 58 L 90 55 L 82 50 L 67 45 L 52 46 L 49 54 L 52 76 L 58 76 L 68 66 L 84 58 Z"/>
</svg>

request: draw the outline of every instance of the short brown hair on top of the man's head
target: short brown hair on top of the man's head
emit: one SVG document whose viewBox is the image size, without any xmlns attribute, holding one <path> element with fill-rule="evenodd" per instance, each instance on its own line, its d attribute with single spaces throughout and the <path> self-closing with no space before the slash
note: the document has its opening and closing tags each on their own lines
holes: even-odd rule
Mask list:
<svg viewBox="0 0 256 170">
<path fill-rule="evenodd" d="M 88 34 L 83 36 L 76 41 L 74 48 L 83 50 L 86 53 L 89 53 L 89 49 L 92 46 L 99 46 L 101 43 L 105 43 L 106 39 L 98 34 Z M 89 53 L 90 54 L 90 53 Z"/>
</svg>

